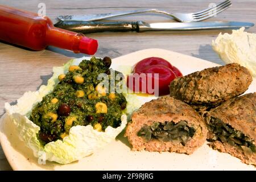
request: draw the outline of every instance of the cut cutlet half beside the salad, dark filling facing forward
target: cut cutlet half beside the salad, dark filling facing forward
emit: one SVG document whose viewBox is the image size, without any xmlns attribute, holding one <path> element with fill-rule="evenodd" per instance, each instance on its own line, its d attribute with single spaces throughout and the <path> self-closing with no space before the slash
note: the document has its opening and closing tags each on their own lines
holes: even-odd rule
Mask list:
<svg viewBox="0 0 256 182">
<path fill-rule="evenodd" d="M 135 151 L 192 154 L 206 141 L 207 127 L 191 106 L 164 96 L 133 113 L 125 136 Z"/>
</svg>

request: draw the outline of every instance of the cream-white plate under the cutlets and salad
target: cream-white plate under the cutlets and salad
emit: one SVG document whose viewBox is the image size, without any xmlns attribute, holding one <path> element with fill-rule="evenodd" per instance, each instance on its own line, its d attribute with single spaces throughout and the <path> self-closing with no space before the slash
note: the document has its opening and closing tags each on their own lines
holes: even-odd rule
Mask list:
<svg viewBox="0 0 256 182">
<path fill-rule="evenodd" d="M 217 64 L 196 57 L 164 49 L 144 49 L 113 59 L 113 68 L 120 65 L 134 65 L 146 57 L 163 57 L 175 65 L 183 75 L 214 67 Z M 246 93 L 256 92 L 256 80 Z M 151 97 L 140 97 L 144 102 Z M 130 144 L 119 134 L 109 146 L 90 155 L 79 162 L 57 164 L 46 162 L 38 164 L 32 150 L 26 147 L 16 135 L 15 126 L 5 115 L 0 120 L 0 142 L 6 158 L 14 170 L 255 170 L 250 165 L 243 164 L 239 159 L 229 154 L 212 150 L 207 142 L 192 155 L 175 154 L 170 152 L 133 152 Z"/>
</svg>

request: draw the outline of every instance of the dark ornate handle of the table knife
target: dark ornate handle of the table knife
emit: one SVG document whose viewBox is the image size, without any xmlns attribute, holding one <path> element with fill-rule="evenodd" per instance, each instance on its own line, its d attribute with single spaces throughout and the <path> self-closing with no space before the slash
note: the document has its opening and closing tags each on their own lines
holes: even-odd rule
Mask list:
<svg viewBox="0 0 256 182">
<path fill-rule="evenodd" d="M 80 32 L 80 33 L 94 33 L 94 32 L 127 32 L 139 31 L 138 22 L 85 22 L 85 21 L 71 21 L 60 20 L 55 27 L 63 28 L 65 30 Z"/>
</svg>

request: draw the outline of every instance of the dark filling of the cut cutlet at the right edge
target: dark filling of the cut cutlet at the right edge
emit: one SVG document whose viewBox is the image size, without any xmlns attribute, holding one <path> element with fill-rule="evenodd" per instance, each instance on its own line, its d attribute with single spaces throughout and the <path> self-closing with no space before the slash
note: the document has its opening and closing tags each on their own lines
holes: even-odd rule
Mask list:
<svg viewBox="0 0 256 182">
<path fill-rule="evenodd" d="M 232 146 L 240 147 L 245 154 L 255 153 L 255 143 L 253 139 L 246 137 L 241 131 L 234 129 L 232 126 L 222 122 L 218 118 L 210 118 L 208 129 L 213 133 L 213 137 L 208 139 L 209 142 L 220 141 L 229 143 Z"/>
</svg>

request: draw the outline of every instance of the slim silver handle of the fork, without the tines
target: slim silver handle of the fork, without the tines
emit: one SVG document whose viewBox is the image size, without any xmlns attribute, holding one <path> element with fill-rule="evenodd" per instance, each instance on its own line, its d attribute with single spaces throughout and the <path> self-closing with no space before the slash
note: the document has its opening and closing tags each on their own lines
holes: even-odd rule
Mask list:
<svg viewBox="0 0 256 182">
<path fill-rule="evenodd" d="M 160 13 L 160 14 L 167 14 L 166 12 L 158 9 L 144 9 L 144 10 L 133 10 L 133 11 L 118 11 L 115 13 L 106 13 L 106 14 L 96 14 L 96 15 L 66 15 L 66 16 L 58 16 L 57 19 L 59 20 L 76 20 L 76 21 L 96 21 L 102 20 L 107 18 L 113 18 L 117 16 L 124 16 L 124 15 L 132 15 L 132 14 L 139 14 L 139 13 Z"/>
</svg>

